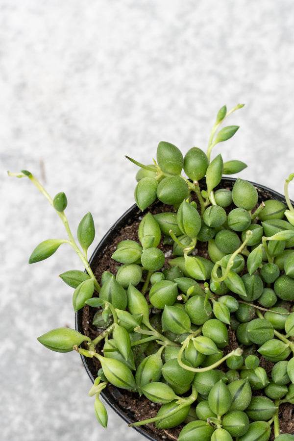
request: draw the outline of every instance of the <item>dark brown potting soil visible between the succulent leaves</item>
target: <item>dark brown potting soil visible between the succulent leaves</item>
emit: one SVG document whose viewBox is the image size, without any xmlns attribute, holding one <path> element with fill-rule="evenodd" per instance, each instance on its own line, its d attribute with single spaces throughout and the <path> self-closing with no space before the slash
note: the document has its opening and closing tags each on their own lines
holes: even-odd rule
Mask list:
<svg viewBox="0 0 294 441">
<path fill-rule="evenodd" d="M 264 200 L 266 200 L 267 198 L 270 198 L 272 196 L 265 193 L 263 196 L 260 197 L 260 199 L 262 199 L 262 197 L 264 198 Z M 259 203 L 260 202 L 261 200 L 259 201 Z M 152 207 L 152 214 L 163 211 L 172 211 L 171 206 L 165 206 L 164 204 L 158 202 L 154 203 Z M 139 217 L 137 217 L 137 219 L 134 219 L 133 222 L 130 222 L 129 224 L 121 228 L 118 233 L 114 237 L 112 237 L 111 244 L 109 244 L 104 250 L 101 250 L 98 256 L 92 262 L 92 270 L 94 271 L 94 274 L 99 282 L 101 279 L 101 274 L 104 271 L 110 271 L 111 273 L 116 274 L 117 268 L 120 264 L 112 260 L 111 256 L 116 250 L 117 244 L 123 240 L 134 240 L 136 242 L 139 242 L 138 226 L 143 216 L 144 214 L 139 214 Z M 171 249 L 170 246 L 163 245 L 162 243 L 159 245 L 159 248 L 162 249 L 164 253 L 167 253 Z M 198 242 L 196 253 L 198 256 L 208 258 L 206 243 Z M 168 258 L 166 260 L 168 260 Z M 168 266 L 168 264 L 166 264 L 166 266 Z M 92 340 L 94 340 L 99 334 L 98 328 L 93 325 L 93 318 L 96 311 L 97 310 L 94 308 L 85 306 L 83 308 L 82 314 L 83 331 L 85 335 L 89 336 Z M 223 348 L 224 355 L 237 347 L 238 342 L 235 336 L 235 332 L 229 327 L 229 344 L 225 348 Z M 98 351 L 100 351 L 102 349 L 102 344 L 98 346 L 97 349 Z M 98 369 L 101 367 L 100 363 L 98 359 L 95 358 L 87 359 L 87 362 L 89 370 L 95 378 L 97 376 Z M 269 362 L 264 357 L 261 357 L 260 366 L 265 368 L 270 377 L 273 363 Z M 218 368 L 223 369 L 224 371 L 228 369 L 226 363 L 223 363 Z M 122 416 L 128 420 L 132 419 L 132 421 L 140 421 L 155 417 L 158 409 L 160 408 L 160 405 L 152 403 L 144 395 L 140 397 L 138 393 L 132 393 L 123 389 L 118 389 L 111 384 L 108 384 L 103 392 L 105 393 L 106 399 L 108 399 L 109 396 L 112 401 L 115 400 L 117 411 L 122 413 Z M 260 391 L 256 391 L 256 394 L 260 395 Z M 290 403 L 284 403 L 280 405 L 279 422 L 281 433 L 294 434 L 293 411 L 294 406 Z M 153 437 L 156 440 L 177 440 L 183 426 L 184 424 L 181 424 L 172 429 L 162 430 L 157 429 L 155 427 L 155 423 L 152 423 L 142 427 L 146 431 L 147 435 Z M 272 440 L 274 440 L 273 427 L 270 436 L 270 441 Z"/>
</svg>

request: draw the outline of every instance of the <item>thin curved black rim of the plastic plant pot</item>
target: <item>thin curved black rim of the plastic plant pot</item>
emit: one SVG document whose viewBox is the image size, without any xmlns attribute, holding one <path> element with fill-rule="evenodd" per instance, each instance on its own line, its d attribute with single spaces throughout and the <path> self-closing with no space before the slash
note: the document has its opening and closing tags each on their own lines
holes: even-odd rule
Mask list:
<svg viewBox="0 0 294 441">
<path fill-rule="evenodd" d="M 218 187 L 223 188 L 225 186 L 231 186 L 233 182 L 235 182 L 237 179 L 233 178 L 233 177 L 225 177 L 221 179 L 221 183 L 219 184 Z M 285 197 L 283 195 L 281 195 L 280 193 L 271 190 L 270 188 L 261 185 L 261 184 L 256 184 L 255 182 L 252 181 L 247 181 L 250 182 L 252 185 L 254 185 L 254 187 L 257 188 L 257 190 L 262 191 L 264 194 L 268 194 L 269 197 L 265 198 L 266 199 L 277 199 L 281 202 L 284 202 L 286 204 L 286 200 Z M 205 179 L 202 179 L 201 181 L 199 181 L 200 185 L 204 184 L 205 185 Z M 218 188 L 216 187 L 216 188 Z M 261 203 L 262 199 L 259 200 L 259 202 Z M 107 231 L 107 233 L 103 236 L 103 238 L 100 240 L 99 244 L 97 245 L 97 247 L 95 248 L 89 263 L 90 265 L 93 263 L 96 254 L 99 252 L 100 249 L 105 249 L 107 246 L 107 243 L 109 242 L 109 238 L 111 237 L 112 233 L 115 230 L 120 229 L 124 224 L 125 224 L 125 220 L 127 218 L 133 219 L 134 216 L 144 216 L 145 213 L 147 213 L 148 209 L 146 210 L 146 212 L 143 212 L 141 210 L 139 210 L 139 208 L 137 207 L 136 204 L 132 205 L 128 210 L 125 211 L 125 213 L 112 225 L 112 227 Z M 77 331 L 82 331 L 82 310 L 79 310 L 75 313 L 75 329 Z M 87 374 L 89 375 L 92 383 L 94 383 L 94 376 L 88 366 L 88 362 L 91 361 L 91 359 L 84 357 L 83 355 L 81 355 L 81 359 L 82 359 L 82 363 L 85 367 L 85 370 L 87 372 Z M 117 388 L 114 388 L 117 389 Z M 119 391 L 119 389 L 117 389 Z M 120 392 L 119 392 L 120 393 Z M 124 415 L 122 413 L 122 410 L 119 409 L 119 407 L 117 406 L 116 403 L 116 397 L 114 396 L 114 394 L 111 393 L 107 393 L 107 388 L 106 390 L 102 391 L 100 393 L 100 395 L 102 396 L 103 400 L 107 403 L 107 405 L 114 410 L 114 412 L 119 415 L 127 424 L 131 424 L 134 421 L 131 419 L 131 416 L 127 416 Z M 144 437 L 146 437 L 148 440 L 151 441 L 158 441 L 161 438 L 154 438 L 152 435 L 150 435 L 148 433 L 148 428 L 146 426 L 144 427 L 133 427 L 137 432 L 139 432 L 141 435 L 143 435 Z"/>
</svg>

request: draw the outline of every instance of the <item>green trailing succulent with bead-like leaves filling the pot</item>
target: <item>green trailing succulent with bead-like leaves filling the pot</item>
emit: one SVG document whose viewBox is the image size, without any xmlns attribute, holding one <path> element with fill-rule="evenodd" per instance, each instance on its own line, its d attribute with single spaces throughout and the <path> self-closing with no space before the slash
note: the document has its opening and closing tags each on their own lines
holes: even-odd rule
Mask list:
<svg viewBox="0 0 294 441">
<path fill-rule="evenodd" d="M 294 208 L 288 194 L 294 173 L 285 182 L 286 203 L 259 203 L 255 186 L 241 178 L 232 190 L 221 187 L 223 174 L 246 167 L 239 160 L 223 162 L 221 154 L 211 159 L 213 147 L 239 128 L 219 129 L 221 123 L 242 107 L 220 109 L 206 153 L 192 147 L 183 155 L 160 142 L 151 165 L 127 157 L 140 167 L 138 239 L 118 244 L 112 255 L 117 271 L 101 274 L 100 284 L 87 256 L 95 238 L 91 214 L 78 225 L 77 244 L 65 194 L 51 198 L 30 172 L 9 173 L 35 184 L 68 234 L 42 242 L 29 263 L 69 244 L 85 267 L 60 277 L 74 289 L 74 312 L 85 305 L 96 311 L 97 337 L 58 328 L 38 340 L 54 351 L 74 349 L 98 359 L 89 394 L 103 427 L 107 412 L 99 395 L 111 383 L 161 404 L 156 417 L 132 426 L 181 425 L 179 441 L 266 441 L 271 426 L 276 440 L 294 438 L 280 434 L 278 415 L 282 403 L 294 404 Z M 152 215 L 148 207 L 157 199 L 163 209 Z M 162 244 L 171 252 L 165 254 Z M 153 315 L 160 318 L 157 326 Z M 271 362 L 270 372 L 261 357 Z"/>
</svg>

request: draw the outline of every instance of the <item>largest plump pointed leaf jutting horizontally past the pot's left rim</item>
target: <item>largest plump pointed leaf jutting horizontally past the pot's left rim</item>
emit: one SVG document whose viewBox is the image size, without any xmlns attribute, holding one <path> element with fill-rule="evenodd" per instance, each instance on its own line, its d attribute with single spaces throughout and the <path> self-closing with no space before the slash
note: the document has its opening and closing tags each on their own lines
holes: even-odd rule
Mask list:
<svg viewBox="0 0 294 441">
<path fill-rule="evenodd" d="M 71 328 L 52 329 L 52 331 L 38 337 L 37 340 L 55 352 L 70 352 L 73 350 L 73 346 L 79 346 L 85 340 L 91 341 L 89 337 Z"/>
</svg>

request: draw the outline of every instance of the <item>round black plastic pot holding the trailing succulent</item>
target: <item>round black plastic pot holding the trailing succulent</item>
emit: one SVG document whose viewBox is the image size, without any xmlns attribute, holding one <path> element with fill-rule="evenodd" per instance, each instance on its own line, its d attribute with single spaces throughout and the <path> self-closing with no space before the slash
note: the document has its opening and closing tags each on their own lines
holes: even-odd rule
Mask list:
<svg viewBox="0 0 294 441">
<path fill-rule="evenodd" d="M 235 178 L 224 178 L 221 180 L 221 183 L 219 184 L 218 188 L 232 188 L 234 182 L 236 181 Z M 200 188 L 205 188 L 205 180 L 201 180 L 199 182 Z M 253 184 L 259 194 L 259 203 L 261 203 L 263 200 L 267 199 L 276 199 L 279 201 L 282 201 L 286 203 L 285 197 L 281 194 L 270 190 L 267 187 L 264 187 L 259 184 L 255 184 L 254 182 L 251 182 Z M 163 205 L 160 201 L 154 202 L 152 204 L 152 207 L 156 207 L 159 205 Z M 169 208 L 168 208 L 169 209 Z M 139 218 L 142 218 L 142 211 L 139 210 L 136 204 L 134 204 L 132 207 L 130 207 L 123 216 L 115 222 L 115 224 L 110 228 L 110 230 L 105 234 L 103 239 L 98 244 L 97 248 L 95 249 L 91 259 L 90 259 L 90 265 L 91 268 L 94 270 L 99 266 L 99 262 L 103 256 L 104 251 L 111 245 L 113 245 L 114 237 L 116 237 L 119 233 L 121 233 L 122 229 L 125 229 L 128 225 L 131 225 L 133 222 L 140 222 Z M 75 329 L 79 332 L 83 333 L 84 329 L 82 326 L 82 317 L 83 317 L 83 310 L 79 310 L 75 315 Z M 94 383 L 94 380 L 97 376 L 97 369 L 94 366 L 93 360 L 91 358 L 86 358 L 84 356 L 81 356 L 82 362 L 85 366 L 85 369 L 91 378 L 91 381 Z M 119 400 L 123 397 L 124 394 L 129 394 L 130 392 L 124 391 L 123 389 L 118 389 L 113 387 L 112 385 L 108 385 L 106 389 L 103 390 L 101 393 L 101 396 L 103 397 L 104 401 L 120 416 L 123 418 L 123 420 L 127 424 L 131 424 L 135 422 L 134 419 L 134 413 L 131 409 L 125 409 L 123 408 Z M 155 434 L 150 428 L 147 426 L 142 427 L 135 427 L 135 429 L 143 436 L 145 436 L 148 440 L 152 441 L 162 441 L 162 436 Z M 166 434 L 164 434 L 166 435 Z"/>
</svg>

